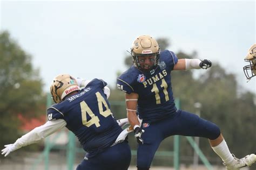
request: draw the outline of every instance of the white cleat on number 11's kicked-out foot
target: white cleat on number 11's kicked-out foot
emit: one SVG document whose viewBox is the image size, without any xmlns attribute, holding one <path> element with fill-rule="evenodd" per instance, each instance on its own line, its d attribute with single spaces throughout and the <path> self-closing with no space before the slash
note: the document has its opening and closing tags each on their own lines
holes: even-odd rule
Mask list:
<svg viewBox="0 0 256 170">
<path fill-rule="evenodd" d="M 241 159 L 235 158 L 234 154 L 232 155 L 235 159 L 234 164 L 226 165 L 225 163 L 223 163 L 223 165 L 226 166 L 228 170 L 238 170 L 242 167 L 251 166 L 254 162 L 256 162 L 255 154 L 246 155 L 244 158 L 241 158 Z"/>
</svg>

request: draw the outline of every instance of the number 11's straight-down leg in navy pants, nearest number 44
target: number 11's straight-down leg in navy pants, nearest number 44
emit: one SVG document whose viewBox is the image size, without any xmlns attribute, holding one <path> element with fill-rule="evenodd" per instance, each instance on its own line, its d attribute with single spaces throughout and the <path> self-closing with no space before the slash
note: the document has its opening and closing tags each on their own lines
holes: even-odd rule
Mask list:
<svg viewBox="0 0 256 170">
<path fill-rule="evenodd" d="M 138 170 L 147 170 L 150 168 L 154 154 L 157 151 L 163 138 L 163 132 L 160 129 L 161 122 L 146 124 L 142 134 L 143 144 L 139 144 L 137 150 L 137 167 Z"/>
</svg>

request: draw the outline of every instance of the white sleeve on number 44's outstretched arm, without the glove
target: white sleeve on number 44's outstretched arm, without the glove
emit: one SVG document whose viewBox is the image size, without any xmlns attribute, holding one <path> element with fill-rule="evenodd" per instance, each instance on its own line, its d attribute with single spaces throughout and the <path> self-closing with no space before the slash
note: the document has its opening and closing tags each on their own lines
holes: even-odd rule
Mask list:
<svg viewBox="0 0 256 170">
<path fill-rule="evenodd" d="M 14 145 L 18 148 L 21 148 L 32 143 L 36 143 L 50 134 L 62 129 L 66 126 L 66 122 L 63 119 L 57 119 L 53 121 L 48 121 L 42 126 L 38 126 L 32 131 L 24 134 L 21 138 L 18 138 Z"/>
</svg>

